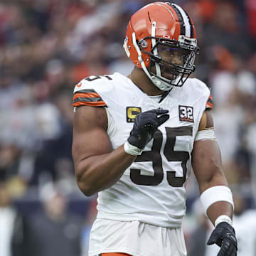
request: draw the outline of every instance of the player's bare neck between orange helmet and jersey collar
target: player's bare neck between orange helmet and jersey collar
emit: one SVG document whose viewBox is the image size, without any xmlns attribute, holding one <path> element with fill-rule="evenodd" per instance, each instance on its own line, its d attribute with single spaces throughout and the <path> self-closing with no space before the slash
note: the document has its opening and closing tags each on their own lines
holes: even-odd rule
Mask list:
<svg viewBox="0 0 256 256">
<path fill-rule="evenodd" d="M 147 95 L 161 95 L 163 91 L 154 85 L 141 68 L 134 68 L 128 78 Z"/>
</svg>

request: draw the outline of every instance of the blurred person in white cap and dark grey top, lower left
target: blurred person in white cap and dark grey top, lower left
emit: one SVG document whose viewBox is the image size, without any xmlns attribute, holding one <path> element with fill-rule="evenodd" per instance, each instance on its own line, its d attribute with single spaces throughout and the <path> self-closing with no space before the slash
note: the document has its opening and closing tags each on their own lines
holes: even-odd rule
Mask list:
<svg viewBox="0 0 256 256">
<path fill-rule="evenodd" d="M 41 198 L 43 213 L 34 215 L 30 223 L 29 255 L 80 256 L 80 218 L 68 213 L 65 196 L 50 183 Z"/>
</svg>

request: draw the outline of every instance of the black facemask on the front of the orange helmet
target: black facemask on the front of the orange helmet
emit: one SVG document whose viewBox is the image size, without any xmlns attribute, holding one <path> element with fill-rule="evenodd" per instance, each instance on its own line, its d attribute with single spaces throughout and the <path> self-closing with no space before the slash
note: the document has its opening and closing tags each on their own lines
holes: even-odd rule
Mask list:
<svg viewBox="0 0 256 256">
<path fill-rule="evenodd" d="M 148 40 L 152 41 L 151 52 L 144 50 Z M 181 87 L 195 70 L 194 61 L 196 53 L 198 53 L 196 39 L 180 36 L 179 40 L 176 41 L 148 36 L 139 41 L 138 45 L 142 53 L 150 55 L 150 65 L 146 75 L 150 75 L 151 81 L 160 90 L 171 90 L 173 86 Z M 167 54 L 161 54 L 164 51 Z M 179 58 L 178 63 L 172 61 L 170 57 L 164 57 L 173 54 L 180 55 L 179 57 L 176 56 Z M 164 76 L 167 73 L 168 78 Z"/>
</svg>

